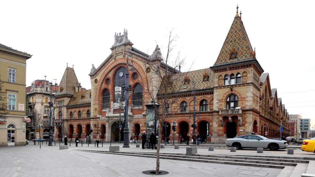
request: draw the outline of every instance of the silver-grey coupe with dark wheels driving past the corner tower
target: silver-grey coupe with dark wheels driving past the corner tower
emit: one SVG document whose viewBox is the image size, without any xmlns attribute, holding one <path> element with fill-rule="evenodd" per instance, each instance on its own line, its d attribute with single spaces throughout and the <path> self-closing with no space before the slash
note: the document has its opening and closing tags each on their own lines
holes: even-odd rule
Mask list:
<svg viewBox="0 0 315 177">
<path fill-rule="evenodd" d="M 264 148 L 276 151 L 285 149 L 289 143 L 285 140 L 271 140 L 261 135 L 241 135 L 226 139 L 226 146 L 242 148 Z"/>
</svg>

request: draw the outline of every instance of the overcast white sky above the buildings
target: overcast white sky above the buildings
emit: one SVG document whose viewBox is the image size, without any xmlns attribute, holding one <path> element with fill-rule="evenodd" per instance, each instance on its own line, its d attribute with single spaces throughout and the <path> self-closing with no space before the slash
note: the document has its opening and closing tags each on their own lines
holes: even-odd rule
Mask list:
<svg viewBox="0 0 315 177">
<path fill-rule="evenodd" d="M 315 1 L 1 1 L 0 43 L 33 55 L 27 86 L 44 76 L 60 83 L 68 62 L 89 89 L 92 64 L 106 59 L 124 28 L 133 47 L 148 54 L 156 43 L 165 49 L 168 29 L 175 28 L 183 69 L 192 61 L 193 70 L 213 66 L 237 4 L 271 87 L 289 114 L 314 125 Z"/>
</svg>

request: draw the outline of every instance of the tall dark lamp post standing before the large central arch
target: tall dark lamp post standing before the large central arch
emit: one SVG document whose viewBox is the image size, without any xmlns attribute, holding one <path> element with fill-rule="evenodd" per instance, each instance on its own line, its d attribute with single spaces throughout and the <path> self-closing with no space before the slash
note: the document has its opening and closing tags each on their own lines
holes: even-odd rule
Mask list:
<svg viewBox="0 0 315 177">
<path fill-rule="evenodd" d="M 128 58 L 129 55 L 127 56 L 127 62 L 126 62 L 126 66 L 127 66 L 127 70 L 126 70 L 126 92 L 125 92 L 125 128 L 123 129 L 123 133 L 124 133 L 124 139 L 123 139 L 123 147 L 129 147 L 129 125 L 128 125 L 128 101 L 129 101 L 129 72 L 128 72 Z"/>
</svg>

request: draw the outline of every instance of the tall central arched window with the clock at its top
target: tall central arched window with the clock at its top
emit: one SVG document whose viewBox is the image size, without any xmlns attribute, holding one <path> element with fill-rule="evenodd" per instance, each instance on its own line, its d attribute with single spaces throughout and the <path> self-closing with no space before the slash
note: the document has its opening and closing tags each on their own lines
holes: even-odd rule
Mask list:
<svg viewBox="0 0 315 177">
<path fill-rule="evenodd" d="M 124 101 L 125 98 L 121 97 L 123 95 L 123 85 L 126 85 L 126 68 L 121 67 L 115 73 L 114 80 L 114 102 L 118 103 L 118 98 L 120 101 Z"/>
</svg>

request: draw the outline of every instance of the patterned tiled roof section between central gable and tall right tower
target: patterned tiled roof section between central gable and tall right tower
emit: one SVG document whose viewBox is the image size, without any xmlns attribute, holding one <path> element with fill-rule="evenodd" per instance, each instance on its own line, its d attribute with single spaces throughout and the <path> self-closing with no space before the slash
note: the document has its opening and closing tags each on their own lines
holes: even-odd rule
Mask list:
<svg viewBox="0 0 315 177">
<path fill-rule="evenodd" d="M 209 79 L 203 81 L 204 74 L 208 74 Z M 189 83 L 184 83 L 185 78 L 189 78 Z M 164 78 L 165 79 L 165 78 Z M 195 81 L 196 90 L 200 89 L 209 89 L 213 88 L 214 86 L 214 74 L 210 68 L 196 70 L 196 71 L 189 71 L 189 72 L 180 72 L 172 77 L 172 85 L 169 87 L 169 93 L 175 92 L 186 92 L 193 90 L 193 81 Z M 161 86 L 161 90 L 159 94 L 164 94 L 165 91 Z"/>
</svg>

